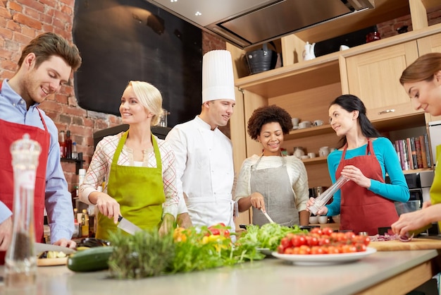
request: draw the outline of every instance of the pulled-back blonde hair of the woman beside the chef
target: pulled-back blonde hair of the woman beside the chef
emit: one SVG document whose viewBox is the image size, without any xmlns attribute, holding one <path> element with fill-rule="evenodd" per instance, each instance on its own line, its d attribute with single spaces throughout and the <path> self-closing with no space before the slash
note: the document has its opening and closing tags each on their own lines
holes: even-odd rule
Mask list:
<svg viewBox="0 0 441 295">
<path fill-rule="evenodd" d="M 132 86 L 142 106 L 145 107 L 148 112 L 154 114 L 151 118 L 151 126 L 158 125 L 164 112 L 162 109 L 161 92 L 159 92 L 158 88 L 154 87 L 154 85 L 144 81 L 130 81 L 126 88 L 129 86 Z"/>
</svg>

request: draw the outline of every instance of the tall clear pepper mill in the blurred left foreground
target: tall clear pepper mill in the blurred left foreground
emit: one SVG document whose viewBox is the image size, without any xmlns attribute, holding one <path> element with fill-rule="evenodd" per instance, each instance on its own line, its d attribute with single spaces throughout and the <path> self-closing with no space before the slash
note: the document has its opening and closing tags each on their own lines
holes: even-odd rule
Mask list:
<svg viewBox="0 0 441 295">
<path fill-rule="evenodd" d="M 35 287 L 34 191 L 41 147 L 25 134 L 11 145 L 14 174 L 13 233 L 5 257 L 5 284 L 8 289 Z M 25 294 L 25 293 L 23 293 Z"/>
</svg>

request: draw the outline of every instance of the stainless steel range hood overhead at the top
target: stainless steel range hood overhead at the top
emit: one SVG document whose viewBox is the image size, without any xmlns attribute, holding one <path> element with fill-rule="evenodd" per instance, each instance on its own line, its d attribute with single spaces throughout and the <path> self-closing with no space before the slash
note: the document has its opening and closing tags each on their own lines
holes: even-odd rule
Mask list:
<svg viewBox="0 0 441 295">
<path fill-rule="evenodd" d="M 374 8 L 373 0 L 147 1 L 240 48 Z"/>
</svg>

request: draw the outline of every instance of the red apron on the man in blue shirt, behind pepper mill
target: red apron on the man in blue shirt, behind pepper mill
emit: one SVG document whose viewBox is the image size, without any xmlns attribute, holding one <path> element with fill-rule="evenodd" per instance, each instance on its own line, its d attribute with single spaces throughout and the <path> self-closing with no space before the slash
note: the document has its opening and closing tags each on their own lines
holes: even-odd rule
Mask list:
<svg viewBox="0 0 441 295">
<path fill-rule="evenodd" d="M 28 133 L 30 138 L 37 141 L 42 148 L 35 177 L 34 219 L 35 239 L 37 242 L 43 242 L 44 191 L 46 188 L 46 165 L 47 156 L 49 154 L 50 136 L 42 113 L 39 109 L 37 110 L 42 119 L 44 130 L 35 126 L 12 123 L 0 119 L 0 179 L 2 183 L 0 186 L 0 200 L 8 206 L 11 211 L 13 210 L 14 181 L 10 148 L 15 140 L 23 138 L 23 135 Z M 5 254 L 5 251 L 0 251 L 0 265 L 4 265 Z"/>
</svg>

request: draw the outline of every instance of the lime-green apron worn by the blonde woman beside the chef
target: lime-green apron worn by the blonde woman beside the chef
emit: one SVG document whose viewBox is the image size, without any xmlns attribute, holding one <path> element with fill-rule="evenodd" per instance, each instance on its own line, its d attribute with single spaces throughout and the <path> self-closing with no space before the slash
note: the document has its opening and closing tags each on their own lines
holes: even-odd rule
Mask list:
<svg viewBox="0 0 441 295">
<path fill-rule="evenodd" d="M 156 168 L 118 165 L 118 158 L 128 137 L 121 136 L 111 164 L 107 193 L 120 204 L 121 215 L 141 229 L 159 227 L 162 219 L 162 205 L 166 201 L 163 189 L 162 163 L 158 143 L 151 136 L 156 157 Z M 108 239 L 108 231 L 115 232 L 117 224 L 113 219 L 98 213 L 97 239 Z"/>
</svg>

